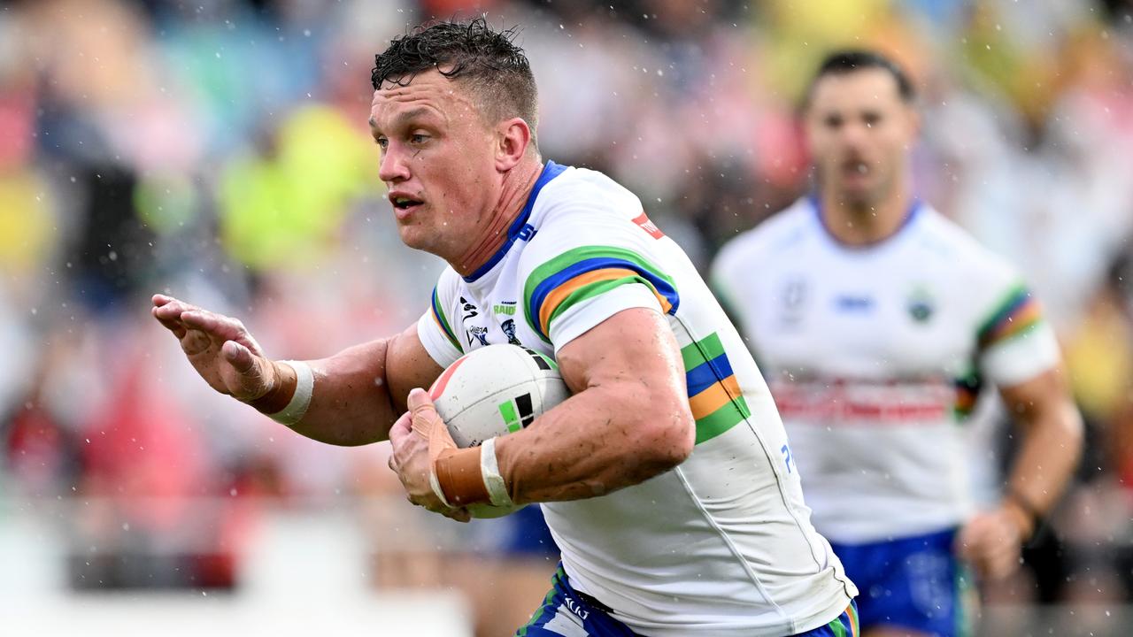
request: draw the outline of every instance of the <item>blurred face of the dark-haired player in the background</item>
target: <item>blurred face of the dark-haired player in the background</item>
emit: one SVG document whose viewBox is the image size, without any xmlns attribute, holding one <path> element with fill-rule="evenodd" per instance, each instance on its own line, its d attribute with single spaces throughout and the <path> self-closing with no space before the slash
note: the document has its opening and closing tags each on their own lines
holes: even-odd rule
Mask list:
<svg viewBox="0 0 1133 637">
<path fill-rule="evenodd" d="M 827 75 L 807 110 L 807 144 L 819 187 L 851 205 L 876 205 L 896 192 L 917 136 L 917 113 L 884 69 Z"/>
</svg>

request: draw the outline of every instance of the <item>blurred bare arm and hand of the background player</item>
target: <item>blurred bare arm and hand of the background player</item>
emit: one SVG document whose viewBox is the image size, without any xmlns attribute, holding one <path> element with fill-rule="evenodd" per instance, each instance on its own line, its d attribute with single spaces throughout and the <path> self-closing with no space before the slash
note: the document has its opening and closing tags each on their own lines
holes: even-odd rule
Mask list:
<svg viewBox="0 0 1133 637">
<path fill-rule="evenodd" d="M 1082 452 L 1082 422 L 1060 366 L 999 393 L 1022 444 L 1000 507 L 973 518 L 960 536 L 961 552 L 990 579 L 1017 566 L 1021 543 L 1062 495 Z"/>
</svg>

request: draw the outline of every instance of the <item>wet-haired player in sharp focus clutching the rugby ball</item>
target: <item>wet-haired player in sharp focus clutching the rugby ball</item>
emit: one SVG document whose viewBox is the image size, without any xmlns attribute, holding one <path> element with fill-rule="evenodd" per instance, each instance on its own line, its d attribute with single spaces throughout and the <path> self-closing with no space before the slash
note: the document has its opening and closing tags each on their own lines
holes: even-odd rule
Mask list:
<svg viewBox="0 0 1133 637">
<path fill-rule="evenodd" d="M 853 632 L 855 589 L 807 519 L 750 354 L 636 196 L 543 162 L 510 33 L 437 23 L 394 40 L 373 85 L 401 239 L 450 264 L 432 307 L 393 338 L 281 363 L 238 321 L 155 296 L 197 372 L 315 440 L 389 436 L 410 500 L 431 510 L 544 502 L 563 568 L 526 635 Z M 512 315 L 494 307 L 509 304 L 521 311 L 504 330 Z M 574 396 L 455 450 L 414 388 L 511 341 L 554 355 Z"/>
</svg>

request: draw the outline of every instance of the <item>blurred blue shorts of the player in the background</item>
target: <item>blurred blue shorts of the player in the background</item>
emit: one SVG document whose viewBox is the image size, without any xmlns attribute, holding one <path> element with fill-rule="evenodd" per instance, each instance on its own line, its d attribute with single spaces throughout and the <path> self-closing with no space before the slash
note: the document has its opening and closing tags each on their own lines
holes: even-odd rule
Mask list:
<svg viewBox="0 0 1133 637">
<path fill-rule="evenodd" d="M 956 529 L 868 544 L 830 543 L 858 585 L 858 621 L 935 637 L 969 634 L 971 579 L 953 553 Z"/>
</svg>

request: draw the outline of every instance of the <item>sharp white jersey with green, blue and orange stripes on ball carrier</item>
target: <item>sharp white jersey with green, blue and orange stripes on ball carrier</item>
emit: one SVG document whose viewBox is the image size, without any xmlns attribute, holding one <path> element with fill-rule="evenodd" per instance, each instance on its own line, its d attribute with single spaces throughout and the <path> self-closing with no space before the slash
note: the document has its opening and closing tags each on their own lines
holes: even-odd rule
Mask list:
<svg viewBox="0 0 1133 637">
<path fill-rule="evenodd" d="M 500 252 L 470 277 L 442 273 L 418 333 L 442 366 L 497 342 L 554 356 L 633 307 L 662 312 L 676 337 L 697 444 L 641 484 L 543 504 L 571 584 L 648 636 L 826 625 L 857 591 L 810 524 L 774 400 L 692 263 L 632 193 L 548 162 Z"/>
</svg>

